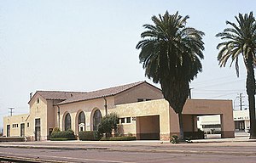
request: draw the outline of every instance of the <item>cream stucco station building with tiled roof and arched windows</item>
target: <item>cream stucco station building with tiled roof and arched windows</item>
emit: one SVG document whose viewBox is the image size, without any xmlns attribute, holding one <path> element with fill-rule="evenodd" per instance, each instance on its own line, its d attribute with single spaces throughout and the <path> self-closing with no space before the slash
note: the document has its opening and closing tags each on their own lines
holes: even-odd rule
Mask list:
<svg viewBox="0 0 256 163">
<path fill-rule="evenodd" d="M 119 115 L 119 133 L 137 139 L 169 140 L 179 134 L 177 114 L 161 90 L 148 82 L 134 82 L 93 92 L 37 91 L 25 115 L 3 118 L 3 135 L 47 140 L 54 127 L 95 131 L 102 116 Z M 184 132 L 198 132 L 199 115 L 219 115 L 222 138 L 234 138 L 232 101 L 188 99 L 183 108 Z"/>
</svg>

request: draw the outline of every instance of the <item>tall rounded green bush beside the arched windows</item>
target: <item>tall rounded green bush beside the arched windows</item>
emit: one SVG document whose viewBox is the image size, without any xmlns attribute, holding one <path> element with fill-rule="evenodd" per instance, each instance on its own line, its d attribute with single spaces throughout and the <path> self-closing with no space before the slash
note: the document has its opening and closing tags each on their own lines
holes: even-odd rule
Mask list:
<svg viewBox="0 0 256 163">
<path fill-rule="evenodd" d="M 109 137 L 112 131 L 117 130 L 117 125 L 119 124 L 119 116 L 115 113 L 110 113 L 102 118 L 101 123 L 99 124 L 98 132 L 100 135 L 106 133 L 106 136 Z"/>
</svg>

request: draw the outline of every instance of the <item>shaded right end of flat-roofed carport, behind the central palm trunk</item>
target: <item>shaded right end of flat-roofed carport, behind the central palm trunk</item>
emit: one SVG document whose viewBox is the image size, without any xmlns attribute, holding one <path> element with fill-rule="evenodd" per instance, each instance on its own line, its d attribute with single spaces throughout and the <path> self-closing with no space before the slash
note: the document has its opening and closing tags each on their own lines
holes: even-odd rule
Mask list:
<svg viewBox="0 0 256 163">
<path fill-rule="evenodd" d="M 178 121 L 177 114 L 170 110 L 171 120 Z M 221 138 L 234 138 L 234 122 L 232 101 L 230 100 L 187 100 L 183 107 L 183 132 L 184 137 L 204 138 L 204 132 L 198 130 L 197 117 L 203 115 L 218 115 Z M 215 124 L 215 122 L 212 124 Z M 178 134 L 178 124 L 171 124 L 171 135 Z"/>
</svg>

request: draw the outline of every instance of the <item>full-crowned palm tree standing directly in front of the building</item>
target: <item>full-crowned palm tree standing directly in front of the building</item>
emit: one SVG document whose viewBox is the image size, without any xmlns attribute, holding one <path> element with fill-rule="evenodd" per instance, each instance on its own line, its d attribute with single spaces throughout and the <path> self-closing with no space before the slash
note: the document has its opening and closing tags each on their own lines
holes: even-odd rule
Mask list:
<svg viewBox="0 0 256 163">
<path fill-rule="evenodd" d="M 153 16 L 154 25 L 143 25 L 146 31 L 136 48 L 145 76 L 160 83 L 164 98 L 178 114 L 180 138 L 183 138 L 183 105 L 189 96 L 189 82 L 202 70 L 204 58 L 202 31 L 185 27 L 189 16 L 166 14 Z"/>
</svg>

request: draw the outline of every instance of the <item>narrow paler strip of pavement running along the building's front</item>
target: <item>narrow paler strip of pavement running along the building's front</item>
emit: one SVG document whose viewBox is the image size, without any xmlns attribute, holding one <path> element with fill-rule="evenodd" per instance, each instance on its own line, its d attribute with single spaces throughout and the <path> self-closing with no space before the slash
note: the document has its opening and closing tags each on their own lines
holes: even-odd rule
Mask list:
<svg viewBox="0 0 256 163">
<path fill-rule="evenodd" d="M 192 143 L 173 144 L 169 141 L 160 140 L 137 140 L 137 141 L 42 141 L 42 142 L 12 142 L 0 143 L 0 148 L 20 148 L 20 149 L 104 149 L 104 150 L 127 150 L 127 149 L 173 149 L 177 146 L 201 147 L 201 146 L 225 146 L 232 143 L 247 144 L 253 143 L 256 147 L 256 140 L 249 137 L 236 138 L 212 138 L 192 140 Z"/>
</svg>

